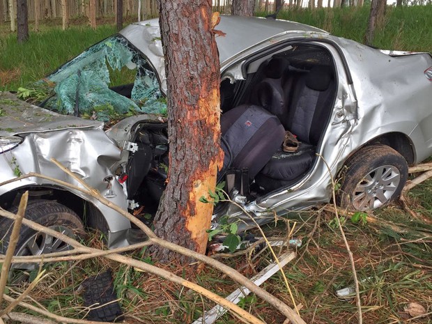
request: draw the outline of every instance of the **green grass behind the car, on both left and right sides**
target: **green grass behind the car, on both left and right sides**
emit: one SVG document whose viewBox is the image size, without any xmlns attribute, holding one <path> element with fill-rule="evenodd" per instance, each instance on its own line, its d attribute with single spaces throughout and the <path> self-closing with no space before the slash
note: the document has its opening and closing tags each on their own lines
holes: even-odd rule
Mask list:
<svg viewBox="0 0 432 324">
<path fill-rule="evenodd" d="M 258 13 L 264 16 L 266 13 Z M 281 11 L 280 19 L 302 22 L 362 43 L 369 6 L 362 8 L 321 8 Z M 109 20 L 111 22 L 111 20 Z M 388 7 L 383 28 L 378 28 L 373 45 L 383 49 L 432 52 L 432 5 Z M 83 19 L 71 21 L 62 31 L 60 20 L 45 21 L 40 32 L 31 31 L 27 43 L 17 44 L 8 24 L 0 24 L 0 91 L 41 79 L 87 47 L 116 32 L 114 25 L 100 25 L 93 31 Z M 75 25 L 73 25 L 75 24 Z"/>
</svg>

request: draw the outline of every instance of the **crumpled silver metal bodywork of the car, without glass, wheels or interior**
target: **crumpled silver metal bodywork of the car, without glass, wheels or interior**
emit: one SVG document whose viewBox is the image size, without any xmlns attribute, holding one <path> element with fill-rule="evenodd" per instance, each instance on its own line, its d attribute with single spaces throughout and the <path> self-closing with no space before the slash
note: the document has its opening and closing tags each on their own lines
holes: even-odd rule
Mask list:
<svg viewBox="0 0 432 324">
<path fill-rule="evenodd" d="M 337 71 L 337 97 L 330 123 L 317 148 L 320 158 L 315 160 L 314 166 L 298 183 L 265 194 L 245 205 L 245 209 L 254 213 L 260 222 L 273 217 L 273 211 L 283 214 L 287 210 L 300 210 L 330 201 L 332 178 L 337 176 L 350 155 L 374 139 L 403 139 L 408 145 L 403 148 L 406 152 L 404 156 L 410 164 L 421 162 L 431 155 L 432 82 L 425 76 L 425 71 L 432 66 L 430 54 L 380 52 L 352 40 L 332 36 L 321 29 L 281 20 L 223 16 L 215 28 L 226 33 L 226 36 L 216 38 L 222 79 L 231 82 L 245 79 L 246 73 L 250 72 L 246 68 L 254 69 L 258 63 L 293 43 L 307 43 L 327 49 Z M 160 79 L 161 90 L 166 93 L 158 21 L 131 24 L 121 31 L 121 35 L 150 61 Z M 33 106 L 31 109 L 36 111 L 40 108 Z M 10 113 L 13 114 L 13 111 Z M 107 199 L 127 209 L 128 203 L 131 203 L 128 202 L 127 189 L 117 180 L 112 181 L 110 188 L 107 177 L 117 179 L 114 174 L 116 167 L 128 160 L 128 145 L 137 125 L 163 123 L 164 120 L 142 114 L 125 118 L 104 132 L 97 122 L 52 112 L 49 114 L 52 116 L 49 120 L 38 123 L 22 121 L 23 125 L 16 128 L 14 125 L 13 129 L 8 126 L 10 121 L 1 118 L 0 135 L 20 135 L 24 141 L 1 154 L 0 181 L 15 178 L 13 170 L 19 166 L 21 173 L 38 172 L 71 182 L 49 162 L 54 157 Z M 1 186 L 0 195 L 38 185 L 53 184 L 40 178 L 27 178 Z M 100 211 L 102 218 L 93 219 L 91 223 L 108 233 L 110 247 L 128 244 L 130 223 L 127 219 L 90 196 L 68 188 L 61 189 L 91 202 Z M 245 217 L 234 206 L 227 213 L 233 217 Z"/>
</svg>

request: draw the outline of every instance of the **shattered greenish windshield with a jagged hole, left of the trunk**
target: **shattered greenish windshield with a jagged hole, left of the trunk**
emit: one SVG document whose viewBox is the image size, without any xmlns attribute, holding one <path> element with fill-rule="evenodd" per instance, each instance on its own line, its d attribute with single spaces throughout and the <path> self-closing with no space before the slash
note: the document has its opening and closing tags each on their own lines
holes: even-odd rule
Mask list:
<svg viewBox="0 0 432 324">
<path fill-rule="evenodd" d="M 60 114 L 107 122 L 167 111 L 151 65 L 120 35 L 93 45 L 43 81 L 54 95 L 41 105 Z"/>
</svg>

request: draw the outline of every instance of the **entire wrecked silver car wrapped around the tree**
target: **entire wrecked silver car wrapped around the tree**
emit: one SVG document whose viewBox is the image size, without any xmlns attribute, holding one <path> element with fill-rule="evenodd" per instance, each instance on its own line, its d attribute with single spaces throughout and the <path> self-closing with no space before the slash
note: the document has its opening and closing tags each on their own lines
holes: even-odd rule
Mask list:
<svg viewBox="0 0 432 324">
<path fill-rule="evenodd" d="M 223 16 L 218 29 L 226 33 L 216 38 L 219 181 L 257 222 L 330 201 L 332 178 L 341 206 L 384 206 L 400 194 L 408 165 L 431 155 L 430 54 L 380 51 L 279 20 Z M 169 167 L 158 21 L 131 24 L 39 86 L 37 106 L 0 95 L 0 182 L 36 172 L 73 183 L 55 158 L 112 203 L 151 220 Z M 109 247 L 134 242 L 128 219 L 43 178 L 2 185 L 1 207 L 16 210 L 26 190 L 27 217 L 45 226 L 73 235 L 85 223 L 105 233 Z M 233 204 L 216 206 L 215 224 L 223 215 L 249 222 Z M 2 219 L 3 246 L 9 228 Z M 24 229 L 17 254 L 66 248 Z"/>
</svg>

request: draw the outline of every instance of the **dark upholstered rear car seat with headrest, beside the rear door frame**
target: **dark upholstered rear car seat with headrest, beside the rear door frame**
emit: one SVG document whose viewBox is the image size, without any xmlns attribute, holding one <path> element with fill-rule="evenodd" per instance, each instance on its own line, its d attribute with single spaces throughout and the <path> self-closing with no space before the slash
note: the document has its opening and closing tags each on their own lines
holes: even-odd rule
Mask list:
<svg viewBox="0 0 432 324">
<path fill-rule="evenodd" d="M 309 73 L 294 80 L 283 123 L 297 136 L 300 146 L 295 153 L 285 153 L 279 147 L 265 164 L 256 176 L 256 182 L 266 191 L 295 182 L 311 167 L 316 146 L 332 111 L 335 86 L 332 68 L 324 65 L 316 65 Z"/>
</svg>

